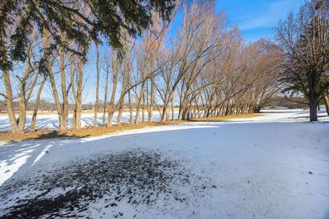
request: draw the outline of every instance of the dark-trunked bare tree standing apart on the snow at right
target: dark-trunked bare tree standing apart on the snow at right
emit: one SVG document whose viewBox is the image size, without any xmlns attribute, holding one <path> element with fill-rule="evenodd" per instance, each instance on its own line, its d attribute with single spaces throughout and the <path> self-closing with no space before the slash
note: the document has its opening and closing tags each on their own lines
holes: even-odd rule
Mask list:
<svg viewBox="0 0 329 219">
<path fill-rule="evenodd" d="M 306 1 L 298 14 L 280 21 L 276 38 L 285 55 L 284 92 L 302 92 L 308 99 L 310 121 L 317 120 L 317 104 L 329 86 L 324 79 L 329 65 L 328 4 Z"/>
</svg>

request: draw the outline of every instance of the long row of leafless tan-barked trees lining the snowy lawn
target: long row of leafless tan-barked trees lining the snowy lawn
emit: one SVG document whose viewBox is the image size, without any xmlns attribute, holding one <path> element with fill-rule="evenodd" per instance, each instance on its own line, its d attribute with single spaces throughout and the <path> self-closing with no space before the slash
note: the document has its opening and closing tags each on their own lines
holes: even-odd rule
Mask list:
<svg viewBox="0 0 329 219">
<path fill-rule="evenodd" d="M 34 103 L 34 113 L 30 131 L 34 131 L 46 84 L 50 87 L 58 112 L 60 131 L 68 128 L 71 107 L 72 128 L 80 129 L 83 90 L 86 86 L 96 88 L 94 126 L 97 126 L 99 113 L 102 125 L 111 126 L 114 112 L 118 113 L 117 125 L 121 125 L 125 107 L 130 110 L 130 123 L 135 124 L 152 121 L 154 110 L 160 112 L 161 121 L 259 112 L 278 92 L 282 62 L 278 47 L 263 39 L 251 44 L 243 43 L 239 28 L 229 25 L 225 13 L 215 12 L 214 2 L 185 5 L 182 27 L 175 38 L 170 38 L 169 34 L 175 11 L 168 8 L 168 4 L 151 10 L 152 22 L 140 37 L 135 38 L 134 31 L 123 22 L 120 25 L 125 28 L 119 28 L 119 38 L 114 38 L 106 32 L 106 28 L 110 27 L 101 26 L 100 20 L 91 22 L 88 20 L 90 16 L 86 15 L 103 8 L 90 6 L 85 1 L 51 2 L 56 2 L 53 7 L 62 10 L 61 13 L 65 12 L 65 16 L 50 13 L 49 10 L 55 10 L 47 8 L 51 5 L 34 5 L 36 14 L 28 16 L 38 17 L 27 18 L 29 28 L 25 30 L 28 33 L 23 34 L 27 37 L 24 42 L 15 38 L 17 34 L 22 34 L 19 28 L 23 28 L 20 26 L 22 20 L 15 20 L 23 19 L 18 14 L 16 17 L 10 15 L 14 16 L 12 22 L 1 31 L 2 51 L 10 54 L 1 60 L 5 90 L 1 95 L 6 101 L 13 133 L 25 130 L 26 111 L 31 102 Z M 67 3 L 65 7 L 64 3 Z M 19 5 L 21 8 L 24 6 L 29 5 Z M 124 10 L 121 6 L 113 7 Z M 162 10 L 172 11 L 166 13 Z M 119 14 L 116 19 L 124 18 L 124 13 Z M 66 16 L 69 16 L 71 23 L 60 20 Z M 38 19 L 41 19 L 41 24 Z M 47 19 L 52 19 L 53 23 L 47 23 Z M 66 29 L 61 22 L 74 28 Z M 81 34 L 79 27 L 84 28 L 87 34 Z M 96 28 L 95 33 L 93 27 Z M 101 38 L 93 37 L 93 34 L 99 34 L 97 31 L 104 34 L 103 38 L 110 39 L 111 47 L 100 49 Z M 88 40 L 75 38 L 72 34 L 80 34 Z M 23 43 L 26 50 L 19 51 L 17 48 L 22 46 L 19 43 Z M 85 76 L 85 66 L 90 66 L 85 59 L 90 44 L 95 44 L 97 50 L 93 62 L 96 84 L 91 84 Z M 16 52 L 25 51 L 25 57 L 17 59 Z M 12 68 L 5 66 L 5 62 L 12 64 Z M 15 101 L 18 102 L 18 116 Z M 175 106 L 179 110 L 177 117 Z"/>
</svg>

